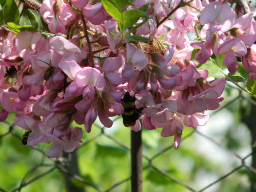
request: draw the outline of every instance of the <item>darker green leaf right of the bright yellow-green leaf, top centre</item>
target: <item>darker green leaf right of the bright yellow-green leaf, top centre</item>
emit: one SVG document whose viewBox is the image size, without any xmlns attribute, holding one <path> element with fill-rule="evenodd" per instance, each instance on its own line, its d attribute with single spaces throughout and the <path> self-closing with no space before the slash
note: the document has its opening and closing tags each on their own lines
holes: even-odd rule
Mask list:
<svg viewBox="0 0 256 192">
<path fill-rule="evenodd" d="M 123 12 L 123 28 L 127 29 L 136 23 L 140 17 L 146 18 L 147 15 L 139 10 L 129 10 Z"/>
</svg>

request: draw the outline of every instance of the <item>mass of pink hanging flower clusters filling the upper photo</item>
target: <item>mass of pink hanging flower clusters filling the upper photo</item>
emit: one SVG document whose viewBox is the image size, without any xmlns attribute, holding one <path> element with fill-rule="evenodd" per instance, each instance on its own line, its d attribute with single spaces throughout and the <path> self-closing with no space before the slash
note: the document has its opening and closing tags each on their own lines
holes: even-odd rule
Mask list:
<svg viewBox="0 0 256 192">
<path fill-rule="evenodd" d="M 82 142 L 82 129 L 71 127 L 73 121 L 84 124 L 88 133 L 97 117 L 105 127 L 112 127 L 109 117 L 124 113 L 121 99 L 129 91 L 135 94 L 136 108 L 143 107 L 143 127 L 162 128 L 163 137 L 174 136 L 177 149 L 183 125 L 205 125 L 204 112 L 217 109 L 223 101 L 226 80 L 207 79 L 208 71 L 196 69 L 199 63 L 225 52 L 223 63 L 230 72 L 237 70 L 241 57 L 256 80 L 253 13 L 241 16 L 224 1 L 204 2 L 202 10 L 201 1 L 193 0 L 191 6 L 178 8 L 174 19 L 158 26 L 181 1 L 135 0 L 129 9 L 146 3 L 148 19 L 134 33 L 151 42 L 121 38 L 117 21 L 102 3 L 89 0 L 69 4 L 43 0 L 40 14 L 56 34 L 48 38 L 0 29 L 0 120 L 15 112 L 14 124 L 33 130 L 28 146 L 51 143 L 46 155 L 59 158 L 62 150 L 74 151 Z M 83 21 L 89 35 L 81 27 Z M 203 40 L 191 42 L 187 34 L 194 33 L 199 22 Z M 68 31 L 70 27 L 74 30 Z M 76 35 L 67 39 L 60 33 Z M 194 48 L 200 48 L 195 59 L 191 58 Z M 131 129 L 141 129 L 139 120 Z"/>
</svg>

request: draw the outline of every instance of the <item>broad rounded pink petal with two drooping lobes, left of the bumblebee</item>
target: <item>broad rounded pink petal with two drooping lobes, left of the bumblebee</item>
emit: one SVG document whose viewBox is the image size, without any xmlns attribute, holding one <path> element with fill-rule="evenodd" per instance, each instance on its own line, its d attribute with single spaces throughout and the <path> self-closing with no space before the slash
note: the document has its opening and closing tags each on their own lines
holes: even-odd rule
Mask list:
<svg viewBox="0 0 256 192">
<path fill-rule="evenodd" d="M 97 91 L 104 91 L 106 82 L 101 72 L 92 67 L 84 67 L 75 76 L 75 83 L 78 88 L 93 84 Z"/>
</svg>

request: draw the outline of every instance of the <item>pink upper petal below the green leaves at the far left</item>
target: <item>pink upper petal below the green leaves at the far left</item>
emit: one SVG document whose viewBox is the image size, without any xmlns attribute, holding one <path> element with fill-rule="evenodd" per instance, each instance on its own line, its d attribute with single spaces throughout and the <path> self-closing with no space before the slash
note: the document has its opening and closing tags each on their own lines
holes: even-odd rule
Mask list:
<svg viewBox="0 0 256 192">
<path fill-rule="evenodd" d="M 22 31 L 16 35 L 15 46 L 18 51 L 31 47 L 35 48 L 38 41 L 43 38 L 39 33 L 32 33 L 30 31 Z"/>
</svg>

